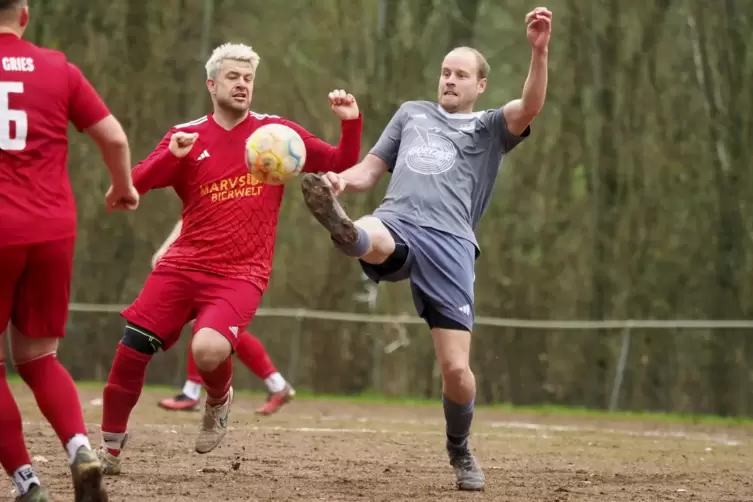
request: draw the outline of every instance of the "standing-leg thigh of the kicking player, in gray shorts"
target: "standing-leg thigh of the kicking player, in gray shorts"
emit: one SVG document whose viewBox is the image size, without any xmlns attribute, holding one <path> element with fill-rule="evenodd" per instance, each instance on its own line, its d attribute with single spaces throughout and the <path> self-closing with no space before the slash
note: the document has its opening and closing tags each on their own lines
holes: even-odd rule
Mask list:
<svg viewBox="0 0 753 502">
<path fill-rule="evenodd" d="M 442 232 L 416 238 L 411 289 L 416 310 L 430 328 L 473 331 L 475 247 Z"/>
</svg>

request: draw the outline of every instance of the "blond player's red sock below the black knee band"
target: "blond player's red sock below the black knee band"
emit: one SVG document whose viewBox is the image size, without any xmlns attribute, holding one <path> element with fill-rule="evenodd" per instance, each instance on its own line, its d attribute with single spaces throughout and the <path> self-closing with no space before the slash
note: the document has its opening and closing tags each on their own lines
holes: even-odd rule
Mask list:
<svg viewBox="0 0 753 502">
<path fill-rule="evenodd" d="M 146 367 L 151 359 L 152 356 L 126 347 L 122 342 L 118 343 L 102 396 L 103 434 L 121 434 L 128 428 L 128 418 L 141 396 Z"/>
</svg>

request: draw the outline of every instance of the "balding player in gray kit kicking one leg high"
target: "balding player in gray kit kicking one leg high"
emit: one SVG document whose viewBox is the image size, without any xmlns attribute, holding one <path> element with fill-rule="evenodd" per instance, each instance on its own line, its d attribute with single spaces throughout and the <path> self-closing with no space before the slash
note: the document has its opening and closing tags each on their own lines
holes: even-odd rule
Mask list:
<svg viewBox="0 0 753 502">
<path fill-rule="evenodd" d="M 468 447 L 476 395 L 469 357 L 474 263 L 480 254 L 474 231 L 502 158 L 530 134 L 544 105 L 551 21 L 552 13 L 541 7 L 526 16 L 533 52 L 520 99 L 474 112 L 489 65 L 475 49 L 455 49 L 442 62 L 437 103 L 404 103 L 359 164 L 340 175 L 301 180 L 309 210 L 372 280 L 410 280 L 442 372 L 447 451 L 461 490 L 485 486 Z M 386 172 L 392 178 L 382 204 L 352 221 L 336 197 L 343 190 L 370 190 Z"/>
</svg>

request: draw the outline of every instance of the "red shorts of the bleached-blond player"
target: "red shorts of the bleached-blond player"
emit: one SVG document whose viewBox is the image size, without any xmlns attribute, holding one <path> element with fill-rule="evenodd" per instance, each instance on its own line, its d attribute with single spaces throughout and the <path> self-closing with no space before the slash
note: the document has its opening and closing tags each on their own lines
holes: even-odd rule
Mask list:
<svg viewBox="0 0 753 502">
<path fill-rule="evenodd" d="M 194 333 L 211 328 L 235 350 L 238 334 L 251 323 L 261 297 L 258 287 L 241 279 L 158 265 L 136 301 L 121 315 L 159 337 L 162 350 L 178 341 L 183 326 L 192 319 L 196 319 Z"/>
</svg>

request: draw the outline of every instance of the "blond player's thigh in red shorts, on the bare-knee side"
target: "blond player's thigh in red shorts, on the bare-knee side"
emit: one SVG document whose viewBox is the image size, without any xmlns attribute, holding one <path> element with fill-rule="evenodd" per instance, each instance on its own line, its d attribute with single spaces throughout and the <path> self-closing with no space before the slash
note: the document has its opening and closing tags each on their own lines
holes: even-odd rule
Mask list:
<svg viewBox="0 0 753 502">
<path fill-rule="evenodd" d="M 207 276 L 197 291 L 194 336 L 206 328 L 211 329 L 227 339 L 234 351 L 238 336 L 256 315 L 262 294 L 248 281 Z"/>
</svg>

